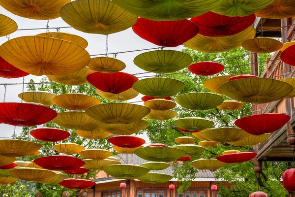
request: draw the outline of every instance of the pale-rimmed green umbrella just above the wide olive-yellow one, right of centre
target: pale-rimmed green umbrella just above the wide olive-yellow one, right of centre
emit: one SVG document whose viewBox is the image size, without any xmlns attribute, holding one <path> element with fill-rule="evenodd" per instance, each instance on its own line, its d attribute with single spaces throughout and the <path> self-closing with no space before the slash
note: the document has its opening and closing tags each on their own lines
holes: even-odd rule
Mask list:
<svg viewBox="0 0 295 197">
<path fill-rule="evenodd" d="M 213 127 L 214 123 L 205 118 L 185 117 L 174 121 L 177 127 L 188 131 L 201 131 Z"/>
</svg>

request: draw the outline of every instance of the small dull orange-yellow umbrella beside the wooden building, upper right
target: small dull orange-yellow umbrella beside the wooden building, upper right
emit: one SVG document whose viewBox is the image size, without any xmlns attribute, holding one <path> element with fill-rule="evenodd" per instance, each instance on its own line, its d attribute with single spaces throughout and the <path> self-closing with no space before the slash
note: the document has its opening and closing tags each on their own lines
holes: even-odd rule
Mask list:
<svg viewBox="0 0 295 197">
<path fill-rule="evenodd" d="M 242 47 L 252 53 L 271 53 L 280 50 L 283 43 L 271 37 L 255 37 L 245 40 Z"/>
</svg>

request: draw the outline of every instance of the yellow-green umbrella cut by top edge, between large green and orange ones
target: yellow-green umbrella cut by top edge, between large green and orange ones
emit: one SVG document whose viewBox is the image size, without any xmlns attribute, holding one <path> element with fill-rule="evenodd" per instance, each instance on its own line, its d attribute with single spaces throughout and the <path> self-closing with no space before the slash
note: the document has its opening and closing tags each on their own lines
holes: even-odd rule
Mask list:
<svg viewBox="0 0 295 197">
<path fill-rule="evenodd" d="M 222 0 L 211 11 L 226 16 L 248 16 L 272 2 L 273 0 Z"/>
</svg>

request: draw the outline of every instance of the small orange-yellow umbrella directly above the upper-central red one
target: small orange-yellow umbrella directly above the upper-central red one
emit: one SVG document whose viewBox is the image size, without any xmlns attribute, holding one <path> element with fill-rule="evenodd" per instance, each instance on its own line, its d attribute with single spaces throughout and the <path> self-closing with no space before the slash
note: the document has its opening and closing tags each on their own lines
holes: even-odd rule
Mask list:
<svg viewBox="0 0 295 197">
<path fill-rule="evenodd" d="M 102 73 L 114 73 L 122 71 L 126 65 L 116 58 L 97 57 L 90 59 L 88 67 Z"/>
</svg>

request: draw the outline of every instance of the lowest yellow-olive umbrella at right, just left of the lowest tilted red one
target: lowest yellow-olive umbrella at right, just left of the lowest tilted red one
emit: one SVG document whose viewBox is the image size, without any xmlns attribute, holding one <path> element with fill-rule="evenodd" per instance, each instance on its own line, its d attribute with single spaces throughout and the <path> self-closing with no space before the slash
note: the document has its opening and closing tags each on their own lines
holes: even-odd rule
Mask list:
<svg viewBox="0 0 295 197">
<path fill-rule="evenodd" d="M 190 166 L 203 170 L 217 170 L 226 165 L 216 159 L 199 159 L 189 163 Z"/>
</svg>

